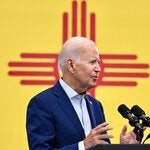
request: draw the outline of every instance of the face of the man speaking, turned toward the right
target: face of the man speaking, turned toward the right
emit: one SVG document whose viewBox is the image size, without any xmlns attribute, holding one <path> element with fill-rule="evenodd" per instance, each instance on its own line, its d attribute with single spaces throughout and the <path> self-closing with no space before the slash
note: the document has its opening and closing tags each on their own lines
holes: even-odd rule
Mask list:
<svg viewBox="0 0 150 150">
<path fill-rule="evenodd" d="M 80 57 L 75 63 L 74 79 L 80 88 L 90 89 L 96 86 L 96 81 L 101 71 L 99 53 L 95 47 L 89 51 L 81 50 Z"/>
</svg>

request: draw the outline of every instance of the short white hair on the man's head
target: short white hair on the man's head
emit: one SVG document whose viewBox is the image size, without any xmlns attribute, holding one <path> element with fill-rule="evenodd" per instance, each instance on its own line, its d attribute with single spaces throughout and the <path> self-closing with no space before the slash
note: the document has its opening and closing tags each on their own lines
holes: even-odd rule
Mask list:
<svg viewBox="0 0 150 150">
<path fill-rule="evenodd" d="M 58 67 L 59 69 L 64 72 L 65 70 L 65 63 L 68 58 L 73 59 L 74 61 L 77 61 L 77 59 L 80 56 L 80 50 L 82 48 L 85 48 L 88 46 L 88 44 L 94 44 L 95 43 L 85 37 L 72 37 L 69 40 L 67 40 L 58 57 Z"/>
</svg>

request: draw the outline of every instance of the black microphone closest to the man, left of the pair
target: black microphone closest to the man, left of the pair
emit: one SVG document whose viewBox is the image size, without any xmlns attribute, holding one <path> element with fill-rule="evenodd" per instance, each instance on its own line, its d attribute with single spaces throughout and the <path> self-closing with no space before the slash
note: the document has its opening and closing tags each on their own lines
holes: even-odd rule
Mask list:
<svg viewBox="0 0 150 150">
<path fill-rule="evenodd" d="M 125 104 L 120 105 L 118 107 L 118 111 L 124 118 L 129 120 L 129 124 L 131 126 L 135 127 L 138 130 L 143 130 L 143 125 L 139 123 L 139 119 L 136 116 L 132 115 L 130 109 Z"/>
</svg>

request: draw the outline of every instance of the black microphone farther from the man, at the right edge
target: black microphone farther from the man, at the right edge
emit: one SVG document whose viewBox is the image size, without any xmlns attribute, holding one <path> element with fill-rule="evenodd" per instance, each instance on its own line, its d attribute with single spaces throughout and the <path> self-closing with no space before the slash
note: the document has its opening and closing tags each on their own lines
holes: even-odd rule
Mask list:
<svg viewBox="0 0 150 150">
<path fill-rule="evenodd" d="M 138 105 L 134 105 L 132 108 L 131 108 L 131 112 L 137 116 L 139 119 L 142 120 L 142 123 L 144 126 L 146 127 L 150 127 L 150 117 L 147 117 L 145 115 L 145 112 L 142 108 L 140 108 Z"/>
</svg>

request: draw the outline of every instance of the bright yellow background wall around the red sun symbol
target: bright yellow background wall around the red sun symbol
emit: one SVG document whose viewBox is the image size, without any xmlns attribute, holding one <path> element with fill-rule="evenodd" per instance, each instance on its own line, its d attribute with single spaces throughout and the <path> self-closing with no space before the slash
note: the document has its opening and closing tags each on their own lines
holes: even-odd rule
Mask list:
<svg viewBox="0 0 150 150">
<path fill-rule="evenodd" d="M 78 0 L 78 8 L 80 8 L 80 2 L 81 0 Z M 149 0 L 87 0 L 86 2 L 87 20 L 89 21 L 91 12 L 96 14 L 96 44 L 102 54 L 134 54 L 137 56 L 136 60 L 120 60 L 119 62 L 149 64 Z M 8 62 L 23 61 L 20 54 L 24 52 L 58 54 L 62 45 L 62 13 L 66 11 L 71 15 L 71 3 L 72 0 L 0 2 L 1 150 L 28 149 L 25 130 L 26 107 L 33 95 L 48 88 L 48 86 L 21 85 L 20 80 L 23 77 L 8 75 L 10 70 L 18 69 L 9 67 Z M 89 23 L 87 27 L 87 37 L 89 37 Z M 69 37 L 70 31 L 69 23 Z M 80 34 L 79 30 L 78 34 Z M 108 62 L 112 63 L 112 60 Z M 19 68 L 19 70 L 24 69 Z M 35 68 L 28 68 L 28 70 L 32 69 Z M 149 68 L 123 71 L 150 72 Z M 115 136 L 112 143 L 119 142 L 121 128 L 123 124 L 128 124 L 128 121 L 117 112 L 121 103 L 129 108 L 138 104 L 150 116 L 149 78 L 123 78 L 123 80 L 134 80 L 137 86 L 98 86 L 96 88 L 95 97 L 103 103 L 107 121 L 114 127 L 111 131 Z M 149 132 L 150 130 L 147 129 L 145 136 Z M 150 140 L 147 142 L 150 143 Z"/>
</svg>

